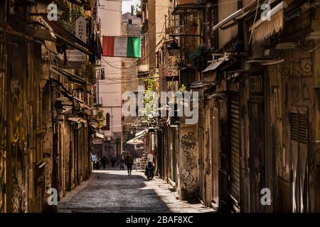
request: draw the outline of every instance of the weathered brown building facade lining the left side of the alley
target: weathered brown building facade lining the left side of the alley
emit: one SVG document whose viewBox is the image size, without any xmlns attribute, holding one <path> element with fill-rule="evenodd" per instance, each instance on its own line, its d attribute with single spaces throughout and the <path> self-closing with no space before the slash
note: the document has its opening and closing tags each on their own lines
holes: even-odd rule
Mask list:
<svg viewBox="0 0 320 227">
<path fill-rule="evenodd" d="M 0 4 L 1 212 L 54 211 L 48 189 L 60 199 L 91 172 L 96 5 L 53 1 L 63 23 L 48 20 L 48 4 Z M 69 11 L 87 18 L 90 38 L 77 37 Z M 70 60 L 75 49 L 85 64 Z"/>
</svg>

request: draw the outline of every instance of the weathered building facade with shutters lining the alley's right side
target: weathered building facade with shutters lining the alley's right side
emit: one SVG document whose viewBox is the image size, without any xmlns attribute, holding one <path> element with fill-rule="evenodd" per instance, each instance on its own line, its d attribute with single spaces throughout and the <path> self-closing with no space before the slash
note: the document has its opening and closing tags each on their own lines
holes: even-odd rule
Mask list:
<svg viewBox="0 0 320 227">
<path fill-rule="evenodd" d="M 173 68 L 175 39 L 178 87 L 199 92 L 199 118 L 167 124 L 161 177 L 180 199 L 224 212 L 319 211 L 319 3 L 174 1 L 168 11 L 179 22 L 164 22 L 157 64 Z"/>
</svg>

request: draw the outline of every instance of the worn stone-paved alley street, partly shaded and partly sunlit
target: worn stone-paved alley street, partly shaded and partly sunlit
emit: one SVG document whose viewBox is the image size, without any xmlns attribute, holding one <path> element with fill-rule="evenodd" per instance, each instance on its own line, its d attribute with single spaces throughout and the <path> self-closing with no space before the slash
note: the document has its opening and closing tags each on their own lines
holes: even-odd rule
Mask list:
<svg viewBox="0 0 320 227">
<path fill-rule="evenodd" d="M 117 167 L 94 170 L 58 203 L 58 212 L 214 212 L 200 201 L 181 201 L 171 192 L 171 185 L 155 177 L 148 181 L 143 172 Z"/>
</svg>

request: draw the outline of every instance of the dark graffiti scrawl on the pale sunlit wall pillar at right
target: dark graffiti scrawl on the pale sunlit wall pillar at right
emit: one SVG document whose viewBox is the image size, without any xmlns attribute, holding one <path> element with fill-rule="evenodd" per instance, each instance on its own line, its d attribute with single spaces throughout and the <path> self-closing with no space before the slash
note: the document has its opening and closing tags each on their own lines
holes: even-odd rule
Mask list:
<svg viewBox="0 0 320 227">
<path fill-rule="evenodd" d="M 196 162 L 193 160 L 193 149 L 196 146 L 196 138 L 193 136 L 193 132 L 189 132 L 187 135 L 181 137 L 181 148 L 185 158 L 184 166 L 186 169 L 195 169 L 197 167 Z"/>
</svg>

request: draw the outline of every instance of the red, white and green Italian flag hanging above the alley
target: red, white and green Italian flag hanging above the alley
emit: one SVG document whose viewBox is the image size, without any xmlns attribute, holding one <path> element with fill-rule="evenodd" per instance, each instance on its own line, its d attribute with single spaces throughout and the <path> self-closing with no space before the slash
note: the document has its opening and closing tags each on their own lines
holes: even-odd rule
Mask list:
<svg viewBox="0 0 320 227">
<path fill-rule="evenodd" d="M 124 36 L 103 36 L 102 56 L 140 57 L 140 38 Z"/>
</svg>

